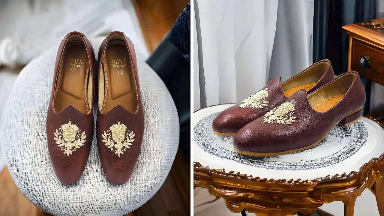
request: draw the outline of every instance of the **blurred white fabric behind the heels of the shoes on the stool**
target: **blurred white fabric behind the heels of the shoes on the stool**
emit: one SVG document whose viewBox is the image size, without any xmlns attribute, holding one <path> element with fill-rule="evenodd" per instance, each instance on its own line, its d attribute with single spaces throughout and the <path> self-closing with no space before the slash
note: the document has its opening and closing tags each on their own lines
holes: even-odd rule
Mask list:
<svg viewBox="0 0 384 216">
<path fill-rule="evenodd" d="M 25 65 L 72 31 L 88 39 L 125 32 L 135 44 L 136 55 L 149 56 L 131 1 L 0 0 L 0 20 L 0 65 Z"/>
</svg>

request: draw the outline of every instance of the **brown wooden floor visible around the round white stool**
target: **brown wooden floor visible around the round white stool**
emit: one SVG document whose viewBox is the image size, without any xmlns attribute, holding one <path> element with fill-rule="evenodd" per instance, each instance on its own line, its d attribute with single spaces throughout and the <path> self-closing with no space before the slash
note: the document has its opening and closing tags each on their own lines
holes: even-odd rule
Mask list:
<svg viewBox="0 0 384 216">
<path fill-rule="evenodd" d="M 150 53 L 166 35 L 189 0 L 132 0 Z M 163 186 L 129 216 L 190 214 L 190 161 L 178 152 Z M 7 168 L 0 173 L 0 216 L 50 216 L 34 206 L 16 187 Z"/>
</svg>

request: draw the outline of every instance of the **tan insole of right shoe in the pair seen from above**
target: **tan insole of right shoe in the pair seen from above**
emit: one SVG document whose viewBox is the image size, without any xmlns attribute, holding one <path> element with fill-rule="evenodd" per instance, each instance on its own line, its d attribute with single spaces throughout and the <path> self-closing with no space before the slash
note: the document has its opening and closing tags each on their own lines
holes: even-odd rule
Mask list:
<svg viewBox="0 0 384 216">
<path fill-rule="evenodd" d="M 118 104 L 135 113 L 137 110 L 135 78 L 131 58 L 123 40 L 108 42 L 103 64 L 105 80 L 108 82 L 103 113 L 107 113 Z"/>
</svg>

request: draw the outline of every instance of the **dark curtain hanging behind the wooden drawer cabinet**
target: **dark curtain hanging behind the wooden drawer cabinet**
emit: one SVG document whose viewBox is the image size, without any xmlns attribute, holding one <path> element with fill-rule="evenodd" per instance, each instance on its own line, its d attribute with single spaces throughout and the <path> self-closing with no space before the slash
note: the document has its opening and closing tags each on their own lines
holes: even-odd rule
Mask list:
<svg viewBox="0 0 384 216">
<path fill-rule="evenodd" d="M 376 0 L 315 0 L 313 63 L 332 62 L 336 75 L 347 71 L 348 37 L 344 25 L 376 18 Z"/>
</svg>

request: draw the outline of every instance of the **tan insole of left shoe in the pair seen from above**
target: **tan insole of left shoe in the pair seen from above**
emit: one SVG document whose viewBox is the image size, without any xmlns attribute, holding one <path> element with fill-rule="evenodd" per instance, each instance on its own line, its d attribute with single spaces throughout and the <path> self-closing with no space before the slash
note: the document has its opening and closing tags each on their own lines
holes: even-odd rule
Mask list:
<svg viewBox="0 0 384 216">
<path fill-rule="evenodd" d="M 89 59 L 84 42 L 74 41 L 65 45 L 56 83 L 55 111 L 68 105 L 81 113 L 88 113 L 87 84 Z"/>
</svg>

